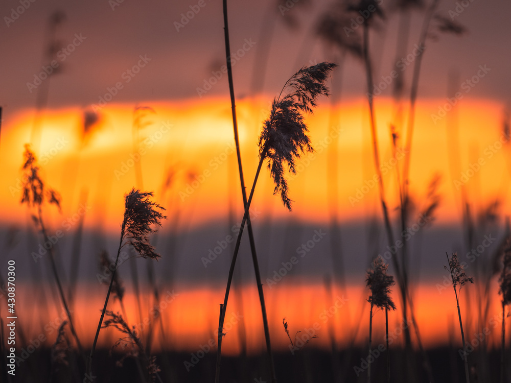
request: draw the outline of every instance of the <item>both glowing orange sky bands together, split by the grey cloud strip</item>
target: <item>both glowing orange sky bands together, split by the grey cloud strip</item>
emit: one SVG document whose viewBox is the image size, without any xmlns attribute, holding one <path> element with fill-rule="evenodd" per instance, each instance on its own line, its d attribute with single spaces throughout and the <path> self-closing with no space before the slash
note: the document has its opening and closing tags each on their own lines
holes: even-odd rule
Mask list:
<svg viewBox="0 0 511 383">
<path fill-rule="evenodd" d="M 458 225 L 459 194 L 456 194 L 455 200 L 455 185 L 449 178 L 447 119 L 444 118 L 435 125 L 431 118 L 431 114 L 436 113 L 438 105 L 442 105 L 444 101 L 442 99 L 428 100 L 419 103 L 417 107 L 410 174 L 411 191 L 422 202 L 430 179 L 435 173 L 441 173 L 443 183 L 439 193 L 442 195 L 443 202 L 436 214 L 437 222 Z M 257 166 L 257 135 L 261 121 L 267 113 L 265 108 L 250 108 L 250 105 L 254 104 L 243 100 L 238 102 L 237 107 L 240 145 L 247 184 L 251 184 Z M 155 113 L 145 117 L 145 121 L 150 122 L 150 125 L 140 133 L 143 142 L 141 148 L 145 149 L 145 153 L 141 156 L 144 189 L 155 192 L 156 200 L 167 208 L 166 213 L 170 219 L 177 212 L 188 217 L 191 228 L 226 219 L 228 188 L 233 187 L 230 186 L 233 182 L 235 182 L 236 193 L 239 194 L 228 105 L 226 99 L 201 103 L 194 101 L 151 103 L 150 106 Z M 260 105 L 265 104 L 260 102 Z M 69 230 L 74 230 L 77 214 L 83 211 L 79 203 L 79 193 L 80 190 L 87 190 L 86 227 L 101 227 L 113 235 L 118 235 L 119 224 L 123 217 L 123 196 L 136 183 L 134 165 L 130 162 L 130 154 L 133 150 L 132 108 L 132 105 L 109 105 L 104 108 L 97 130 L 91 135 L 88 145 L 81 151 L 78 132 L 81 130 L 82 111 L 63 109 L 44 113 L 41 125 L 42 143 L 38 156 L 42 175 L 47 184 L 56 188 L 63 197 L 61 215 L 53 207 L 44 209 L 51 230 L 67 230 L 67 227 Z M 374 175 L 366 108 L 363 100 L 353 100 L 344 102 L 340 109 L 338 204 L 342 222 L 361 220 L 375 211 L 380 214 L 377 188 L 368 188 L 367 192 L 363 192 L 366 190 L 363 189 L 364 184 L 368 184 L 364 183 L 364 180 L 370 180 Z M 393 208 L 397 206 L 397 199 L 392 197 L 396 194 L 396 190 L 392 187 L 396 181 L 394 168 L 390 162 L 388 122 L 391 116 L 389 110 L 392 110 L 389 100 L 377 99 L 382 164 L 388 169 L 388 175 L 385 176 L 384 181 L 387 185 L 386 193 L 390 210 L 393 211 Z M 509 177 L 506 161 L 509 150 L 507 146 L 502 148 L 499 146 L 500 149 L 495 151 L 490 149 L 493 148 L 492 145 L 496 145 L 501 136 L 501 111 L 502 106 L 499 103 L 484 100 L 467 101 L 459 108 L 459 126 L 462 127 L 460 128 L 462 131 L 461 167 L 466 173 L 471 163 L 478 161 L 482 163 L 480 169 L 474 173 L 476 175 L 467 182 L 469 195 L 479 204 L 489 201 L 497 193 L 507 196 Z M 322 103 L 313 116 L 307 117 L 316 154 L 314 157 L 305 156 L 297 166 L 297 176 L 289 181 L 290 196 L 294 200 L 293 211 L 289 213 L 281 205 L 280 198 L 272 195 L 273 186 L 264 169 L 252 204 L 253 211 L 257 214 L 254 219 L 255 225 L 259 217 L 269 214 L 276 218 L 291 218 L 307 223 L 327 222 L 329 218 L 326 193 L 327 152 L 331 145 L 336 145 L 334 140 L 330 140 L 330 137 L 334 137 L 332 132 L 339 129 L 329 126 L 329 113 L 328 103 Z M 19 204 L 21 192 L 17 182 L 21 176 L 22 148 L 30 139 L 32 122 L 33 111 L 26 110 L 8 121 L 5 129 L 2 130 L 0 163 L 2 163 L 4 180 L 8 180 L 0 189 L 0 201 L 2 201 L 0 219 L 4 225 L 12 223 L 24 225 L 27 222 L 27 208 Z M 480 162 L 481 158 L 482 162 Z M 176 172 L 172 188 L 167 190 L 165 198 L 161 198 L 164 176 L 171 166 Z M 230 180 L 229 172 L 231 172 Z M 364 196 L 352 205 L 353 200 L 350 200 L 350 197 L 359 198 L 357 189 L 360 189 Z M 239 203 L 241 198 L 238 198 L 238 195 L 236 198 L 238 215 L 241 218 Z M 504 202 L 503 208 L 503 211 L 508 210 L 507 203 Z M 165 225 L 166 222 L 164 222 L 164 229 Z M 187 230 L 187 227 L 180 227 L 178 230 Z M 438 282 L 442 281 L 440 277 L 438 279 Z M 360 280 L 363 280 L 362 275 Z M 30 289 L 30 286 L 27 285 L 25 288 Z M 394 290 L 396 289 L 394 286 Z M 86 284 L 80 285 L 77 312 L 80 313 L 83 310 L 89 312 L 90 307 L 97 307 L 99 313 L 103 290 L 99 290 L 98 285 L 92 289 L 89 289 Z M 172 308 L 165 313 L 168 316 L 169 336 L 173 339 L 174 347 L 193 350 L 193 345 L 199 346 L 211 338 L 215 323 L 218 323 L 218 304 L 222 300 L 223 291 L 222 288 L 198 287 L 182 288 L 176 292 L 179 293 L 179 297 L 172 303 Z M 322 346 L 328 346 L 328 326 L 333 323 L 339 344 L 346 344 L 345 326 L 353 328 L 353 324 L 357 323 L 360 305 L 366 299 L 362 295 L 364 294 L 363 283 L 350 285 L 346 293 L 350 301 L 346 307 L 343 306 L 349 315 L 346 316 L 344 312 L 341 315 L 339 308 L 335 321 L 322 323 L 321 313 L 332 306 L 332 299 L 335 303 L 338 296 L 342 297 L 339 291 L 334 292 L 332 298 L 327 298 L 320 282 L 293 281 L 290 278 L 285 284 L 275 289 L 266 288 L 265 292 L 275 344 L 283 348 L 287 347 L 287 338 L 281 328 L 284 317 L 289 321 L 292 331 L 305 331 L 318 322 L 320 338 L 314 341 Z M 257 330 L 261 324 L 257 290 L 254 286 L 248 285 L 243 294 L 245 310 L 243 321 L 247 331 L 247 342 L 251 345 L 250 347 L 260 349 L 263 338 L 261 331 Z M 433 346 L 447 340 L 449 318 L 454 321 L 454 326 L 457 323 L 454 297 L 451 292 L 439 294 L 435 283 L 421 283 L 416 286 L 415 294 L 416 315 L 424 343 L 427 346 Z M 496 290 L 494 296 L 496 296 Z M 134 317 L 136 310 L 133 296 L 128 293 L 125 301 L 128 317 Z M 397 292 L 396 301 L 398 301 Z M 21 302 L 22 309 L 31 310 L 27 306 L 29 300 L 25 299 Z M 118 306 L 112 301 L 110 307 L 116 309 L 115 307 Z M 435 309 L 432 310 L 431 307 Z M 238 310 L 235 295 L 231 297 L 229 312 L 230 310 L 233 312 Z M 365 340 L 367 332 L 366 311 L 367 307 L 365 307 L 357 337 L 359 342 Z M 45 314 L 49 319 L 42 320 L 50 321 L 58 316 L 58 313 L 52 313 Z M 495 309 L 491 310 L 490 316 L 498 315 L 498 313 L 497 304 Z M 36 323 L 25 323 L 28 320 L 27 317 L 25 318 L 24 325 L 28 326 L 28 333 L 37 336 L 40 327 Z M 79 318 L 77 326 L 80 331 L 84 334 L 94 332 L 97 325 L 96 316 L 83 313 L 78 314 L 77 318 Z M 381 313 L 375 315 L 375 339 L 382 339 L 384 323 L 382 318 L 384 316 L 382 317 Z M 391 323 L 393 327 L 399 326 L 398 313 L 391 315 Z M 105 334 L 107 333 L 106 331 Z M 457 336 L 454 339 L 458 342 Z M 111 344 L 110 341 L 111 339 L 108 344 Z M 230 331 L 225 342 L 225 349 L 227 352 L 239 350 L 236 329 Z"/>
</svg>

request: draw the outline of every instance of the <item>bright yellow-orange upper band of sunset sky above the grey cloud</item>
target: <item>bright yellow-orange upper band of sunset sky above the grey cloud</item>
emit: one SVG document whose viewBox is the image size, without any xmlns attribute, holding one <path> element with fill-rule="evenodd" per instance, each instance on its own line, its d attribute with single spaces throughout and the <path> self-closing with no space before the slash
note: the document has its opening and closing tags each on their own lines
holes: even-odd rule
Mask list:
<svg viewBox="0 0 511 383">
<path fill-rule="evenodd" d="M 453 183 L 449 174 L 447 117 L 436 125 L 431 118 L 431 114 L 436 114 L 438 106 L 443 103 L 445 100 L 442 99 L 419 103 L 410 185 L 412 195 L 420 201 L 424 199 L 433 176 L 442 175 L 439 193 L 443 202 L 437 219 L 440 222 L 456 222 L 460 215 L 454 197 L 459 200 L 459 192 L 456 191 L 459 182 Z M 238 102 L 237 107 L 247 188 L 257 167 L 257 137 L 267 113 L 264 107 L 253 110 L 249 105 L 253 103 L 245 100 Z M 230 177 L 237 178 L 236 168 L 233 167 L 236 155 L 227 100 L 151 103 L 150 106 L 156 113 L 145 117 L 150 125 L 141 131 L 143 188 L 155 192 L 155 197 L 164 207 L 191 214 L 192 224 L 225 217 L 228 185 L 233 182 L 233 178 L 229 181 L 227 174 L 230 172 Z M 402 166 L 403 161 L 399 154 L 396 157 L 398 161 L 394 160 L 389 149 L 391 110 L 390 101 L 377 99 L 386 198 L 390 206 L 396 206 L 395 164 L 398 162 Z M 337 131 L 340 132 L 338 204 L 341 220 L 359 219 L 367 211 L 379 213 L 376 206 L 378 188 L 371 180 L 375 172 L 366 111 L 363 100 L 344 102 L 340 109 L 339 125 L 330 126 L 329 106 L 323 103 L 314 115 L 307 117 L 316 153 L 306 154 L 298 163 L 298 174 L 289 178 L 290 196 L 295 201 L 292 212 L 294 219 L 321 222 L 328 217 L 326 161 L 330 146 L 336 145 Z M 478 161 L 483 163 L 466 185 L 469 196 L 474 200 L 495 198 L 498 193 L 507 195 L 508 149 L 499 141 L 502 135 L 501 112 L 502 105 L 483 100 L 467 101 L 459 107 L 462 174 L 456 180 L 463 180 L 462 176 L 467 172 L 473 175 L 470 172 L 474 164 Z M 51 110 L 43 115 L 40 164 L 47 184 L 63 196 L 62 216 L 53 215 L 55 225 L 77 212 L 80 190 L 85 189 L 88 191 L 89 214 L 92 217 L 86 224 L 94 226 L 101 218 L 108 230 L 115 232 L 118 228 L 124 208 L 123 196 L 136 183 L 133 158 L 137 157 L 130 157 L 133 152 L 132 105 L 109 105 L 101 111 L 101 116 L 97 131 L 80 152 L 78 132 L 82 112 L 79 109 L 63 109 Z M 4 180 L 7 181 L 0 189 L 0 200 L 3 201 L 0 219 L 5 223 L 21 223 L 25 220 L 26 209 L 18 204 L 21 196 L 18 181 L 21 177 L 23 146 L 30 139 L 32 123 L 33 111 L 26 110 L 7 121 L 3 129 L 0 162 L 4 169 Z M 161 201 L 160 192 L 169 169 L 175 172 L 172 188 L 167 192 L 167 196 L 172 198 Z M 236 193 L 239 194 L 239 181 L 234 182 Z M 269 174 L 263 170 L 252 206 L 262 211 L 270 208 L 277 217 L 291 217 L 281 205 L 280 198 L 272 196 L 272 191 Z M 236 198 L 241 202 L 239 197 Z"/>
</svg>

